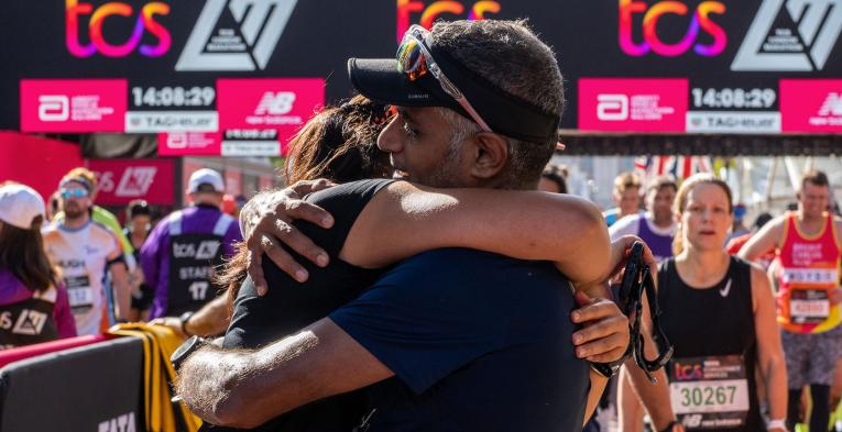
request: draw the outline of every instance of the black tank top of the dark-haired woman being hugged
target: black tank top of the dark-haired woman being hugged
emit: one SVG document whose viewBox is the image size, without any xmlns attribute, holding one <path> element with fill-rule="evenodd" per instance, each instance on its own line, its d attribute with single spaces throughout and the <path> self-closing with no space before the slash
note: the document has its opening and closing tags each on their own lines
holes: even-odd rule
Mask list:
<svg viewBox="0 0 842 432">
<path fill-rule="evenodd" d="M 287 250 L 309 272 L 309 279 L 300 284 L 264 256 L 263 272 L 269 293 L 256 295 L 251 278 L 247 278 L 234 300 L 231 324 L 226 332 L 226 348 L 258 348 L 292 335 L 298 330 L 327 317 L 350 302 L 386 272 L 386 268 L 367 269 L 339 259 L 339 252 L 357 217 L 365 204 L 391 179 L 372 179 L 335 186 L 310 196 L 313 202 L 333 215 L 333 226 L 321 229 L 308 222 L 295 225 L 314 243 L 330 255 L 327 267 L 317 267 L 295 252 Z M 350 432 L 368 412 L 365 395 L 361 390 L 333 396 L 299 407 L 254 429 L 261 432 Z M 207 422 L 201 431 L 233 431 Z"/>
</svg>

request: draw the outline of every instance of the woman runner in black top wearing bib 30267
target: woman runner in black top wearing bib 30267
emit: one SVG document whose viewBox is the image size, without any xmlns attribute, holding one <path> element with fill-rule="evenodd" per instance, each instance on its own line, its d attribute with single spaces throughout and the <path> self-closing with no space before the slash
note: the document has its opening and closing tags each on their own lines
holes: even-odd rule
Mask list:
<svg viewBox="0 0 842 432">
<path fill-rule="evenodd" d="M 775 300 L 763 269 L 722 247 L 732 202 L 728 185 L 710 174 L 688 178 L 676 196 L 675 256 L 657 277 L 660 323 L 675 345 L 669 398 L 688 431 L 783 432 L 787 378 Z M 766 424 L 755 366 L 768 389 Z"/>
</svg>

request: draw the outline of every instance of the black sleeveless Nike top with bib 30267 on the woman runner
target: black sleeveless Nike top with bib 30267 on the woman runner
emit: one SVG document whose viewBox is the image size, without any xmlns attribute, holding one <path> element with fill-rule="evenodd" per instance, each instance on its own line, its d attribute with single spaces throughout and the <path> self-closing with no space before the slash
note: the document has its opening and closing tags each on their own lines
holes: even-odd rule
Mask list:
<svg viewBox="0 0 842 432">
<path fill-rule="evenodd" d="M 693 288 L 681 280 L 675 258 L 669 258 L 658 269 L 658 288 L 661 325 L 675 345 L 667 375 L 679 420 L 687 430 L 764 430 L 754 375 L 757 337 L 751 265 L 731 257 L 728 273 L 719 284 Z M 740 398 L 745 391 L 745 398 Z M 743 417 L 742 410 L 700 412 L 712 407 L 739 407 L 740 400 L 745 399 L 747 412 L 739 427 L 729 424 Z M 677 406 L 681 408 L 676 409 Z"/>
</svg>

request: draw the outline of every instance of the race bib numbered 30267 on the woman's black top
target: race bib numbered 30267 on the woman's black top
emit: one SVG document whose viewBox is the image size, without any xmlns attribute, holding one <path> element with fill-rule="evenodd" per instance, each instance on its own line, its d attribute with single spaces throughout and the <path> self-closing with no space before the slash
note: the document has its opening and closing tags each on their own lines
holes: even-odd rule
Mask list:
<svg viewBox="0 0 842 432">
<path fill-rule="evenodd" d="M 739 428 L 748 412 L 748 380 L 740 355 L 670 362 L 669 398 L 687 429 Z"/>
</svg>

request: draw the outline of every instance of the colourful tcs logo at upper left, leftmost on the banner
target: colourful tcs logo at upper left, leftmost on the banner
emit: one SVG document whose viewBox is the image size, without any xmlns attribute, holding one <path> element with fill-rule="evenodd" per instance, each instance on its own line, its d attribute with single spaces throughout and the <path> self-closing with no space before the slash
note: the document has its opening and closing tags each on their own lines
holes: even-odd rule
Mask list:
<svg viewBox="0 0 842 432">
<path fill-rule="evenodd" d="M 79 21 L 80 16 L 88 14 L 90 14 L 90 21 L 87 25 L 87 36 L 90 43 L 83 44 L 79 41 Z M 140 46 L 140 53 L 146 57 L 160 57 L 166 54 L 172 44 L 172 36 L 166 27 L 155 21 L 155 15 L 170 14 L 170 4 L 160 1 L 146 3 L 140 9 L 129 41 L 120 45 L 106 41 L 102 34 L 102 24 L 106 19 L 113 15 L 132 16 L 132 14 L 134 14 L 132 5 L 119 1 L 111 1 L 95 9 L 91 3 L 79 3 L 79 0 L 65 0 L 65 20 L 67 21 L 65 40 L 67 49 L 70 54 L 80 58 L 90 57 L 97 52 L 106 57 L 124 57 L 134 52 L 138 46 Z M 141 44 L 144 32 L 155 36 L 157 45 Z"/>
</svg>

